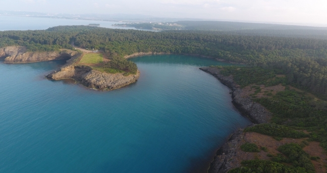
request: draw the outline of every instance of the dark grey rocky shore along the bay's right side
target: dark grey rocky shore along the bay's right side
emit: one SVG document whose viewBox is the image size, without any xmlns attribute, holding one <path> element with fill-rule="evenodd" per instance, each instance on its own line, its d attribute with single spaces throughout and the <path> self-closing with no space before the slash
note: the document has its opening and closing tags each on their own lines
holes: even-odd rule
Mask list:
<svg viewBox="0 0 327 173">
<path fill-rule="evenodd" d="M 268 123 L 270 121 L 272 113 L 259 103 L 253 102 L 249 96 L 242 97 L 242 89 L 234 83 L 232 76 L 220 75 L 220 69 L 217 67 L 202 67 L 200 70 L 215 76 L 221 83 L 230 87 L 232 103 L 254 124 Z M 237 156 L 237 147 L 241 145 L 243 138 L 243 130 L 234 132 L 216 152 L 208 173 L 226 173 L 230 169 L 239 167 L 240 165 L 235 165 L 234 160 L 231 158 Z"/>
</svg>

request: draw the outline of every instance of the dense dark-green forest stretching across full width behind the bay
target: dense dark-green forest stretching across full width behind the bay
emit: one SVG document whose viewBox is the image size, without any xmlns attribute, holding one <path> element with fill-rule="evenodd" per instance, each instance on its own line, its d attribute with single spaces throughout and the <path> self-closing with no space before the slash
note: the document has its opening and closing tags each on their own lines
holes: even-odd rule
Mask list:
<svg viewBox="0 0 327 173">
<path fill-rule="evenodd" d="M 318 29 L 315 31 L 325 31 Z M 324 36 L 324 33 L 320 35 Z M 252 66 L 274 67 L 285 71 L 287 81 L 296 87 L 327 98 L 327 40 L 324 39 L 218 31 L 149 32 L 87 26 L 0 32 L 0 47 L 23 45 L 30 51 L 53 51 L 72 48 L 72 42 L 85 48 L 101 49 L 117 59 L 136 52 L 152 51 L 204 55 Z"/>
</svg>

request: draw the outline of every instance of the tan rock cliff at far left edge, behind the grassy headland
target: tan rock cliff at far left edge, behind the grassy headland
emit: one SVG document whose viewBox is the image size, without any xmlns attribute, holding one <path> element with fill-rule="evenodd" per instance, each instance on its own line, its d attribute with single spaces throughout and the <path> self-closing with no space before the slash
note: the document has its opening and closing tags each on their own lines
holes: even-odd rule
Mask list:
<svg viewBox="0 0 327 173">
<path fill-rule="evenodd" d="M 4 63 L 31 63 L 53 60 L 68 60 L 78 54 L 77 51 L 61 49 L 52 52 L 28 52 L 23 46 L 0 48 L 0 58 Z"/>
</svg>

